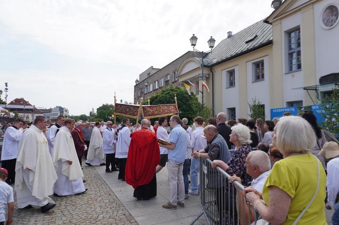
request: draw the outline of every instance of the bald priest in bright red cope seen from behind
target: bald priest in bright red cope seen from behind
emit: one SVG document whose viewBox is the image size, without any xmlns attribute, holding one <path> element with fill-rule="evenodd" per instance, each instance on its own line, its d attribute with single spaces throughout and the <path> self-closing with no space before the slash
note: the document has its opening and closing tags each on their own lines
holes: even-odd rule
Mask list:
<svg viewBox="0 0 339 225">
<path fill-rule="evenodd" d="M 149 200 L 157 195 L 155 169 L 160 162 L 158 138 L 148 129 L 149 121 L 141 121 L 141 130 L 131 133 L 125 179 L 134 188 L 138 200 Z"/>
</svg>

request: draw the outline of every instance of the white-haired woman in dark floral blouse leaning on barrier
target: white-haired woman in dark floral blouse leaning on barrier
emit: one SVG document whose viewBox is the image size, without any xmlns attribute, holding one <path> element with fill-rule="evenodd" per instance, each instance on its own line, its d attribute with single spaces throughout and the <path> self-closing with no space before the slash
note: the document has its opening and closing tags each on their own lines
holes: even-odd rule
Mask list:
<svg viewBox="0 0 339 225">
<path fill-rule="evenodd" d="M 236 175 L 241 179 L 245 186 L 251 182 L 251 177 L 246 173 L 245 160 L 247 155 L 252 151 L 250 130 L 247 126 L 238 123 L 231 127 L 230 142 L 235 145 L 235 151 L 229 163 L 221 160 L 213 160 L 212 167 L 220 166 L 226 173 Z"/>
</svg>

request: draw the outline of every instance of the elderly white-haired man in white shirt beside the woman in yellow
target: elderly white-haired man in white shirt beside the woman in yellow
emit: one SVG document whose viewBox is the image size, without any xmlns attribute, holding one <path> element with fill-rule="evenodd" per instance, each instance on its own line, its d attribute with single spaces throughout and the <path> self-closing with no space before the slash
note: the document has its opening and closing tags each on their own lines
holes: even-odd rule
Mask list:
<svg viewBox="0 0 339 225">
<path fill-rule="evenodd" d="M 251 182 L 251 186 L 249 188 L 246 188 L 246 190 L 252 190 L 256 191 L 256 193 L 262 193 L 262 188 L 263 185 L 266 181 L 266 179 L 268 178 L 268 176 L 270 175 L 270 170 L 271 170 L 271 161 L 270 158 L 268 156 L 268 154 L 266 154 L 263 151 L 252 151 L 248 154 L 248 156 L 246 157 L 246 161 L 245 161 L 245 166 L 246 166 L 246 173 L 248 175 L 250 175 L 253 180 Z M 241 179 L 239 177 L 237 177 L 236 175 L 233 175 L 232 177 L 229 178 L 230 182 L 234 182 L 237 181 L 239 183 L 241 183 Z M 239 192 L 239 196 L 241 196 L 241 190 L 238 189 Z M 239 205 L 239 209 L 242 209 L 244 206 L 244 210 L 239 210 L 238 212 L 238 216 L 240 218 L 240 223 L 241 224 L 245 224 L 245 221 L 241 221 L 243 220 L 243 218 L 248 218 L 248 206 L 244 198 L 240 198 L 237 200 L 238 205 Z M 245 217 L 243 216 L 243 213 L 245 213 Z M 254 212 L 253 212 L 253 208 L 251 207 L 251 222 L 254 221 Z"/>
</svg>

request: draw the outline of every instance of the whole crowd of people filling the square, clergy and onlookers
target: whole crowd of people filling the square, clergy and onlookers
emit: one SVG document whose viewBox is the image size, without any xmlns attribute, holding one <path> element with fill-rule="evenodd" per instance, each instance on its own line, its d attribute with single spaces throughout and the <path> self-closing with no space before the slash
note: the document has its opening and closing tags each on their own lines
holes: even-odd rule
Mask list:
<svg viewBox="0 0 339 225">
<path fill-rule="evenodd" d="M 333 224 L 339 224 L 339 183 L 335 179 L 339 146 L 328 142 L 335 138 L 328 138 L 312 113 L 302 117 L 286 114 L 272 121 L 227 120 L 225 113 L 219 113 L 215 118 L 196 117 L 191 126 L 179 116 L 167 120 L 160 117 L 153 126 L 148 119 L 133 125 L 128 118 L 121 123 L 91 125 L 59 116 L 53 124 L 39 116 L 29 128 L 21 119 L 11 126 L 4 124 L 0 192 L 9 193 L 7 221 L 13 216 L 10 184 L 16 189 L 19 209 L 40 207 L 44 213 L 56 205 L 49 195 L 86 192 L 85 165 L 106 166 L 107 173 L 118 171 L 117 179 L 133 186 L 137 200 L 149 200 L 157 194 L 156 174 L 167 164 L 171 199 L 162 207 L 184 207 L 189 195 L 203 191 L 200 158 L 208 158 L 211 170 L 220 167 L 231 176 L 230 183 L 247 187 L 238 190 L 244 200 L 231 201 L 244 207 L 250 203 L 261 219 L 273 224 L 326 224 L 326 202 L 327 209 L 335 209 Z M 207 180 L 220 223 L 226 221 L 225 209 L 239 217 L 245 213 L 245 218 L 254 221 L 253 208 L 237 212 L 225 206 L 228 182 L 212 172 L 207 173 Z"/>
</svg>

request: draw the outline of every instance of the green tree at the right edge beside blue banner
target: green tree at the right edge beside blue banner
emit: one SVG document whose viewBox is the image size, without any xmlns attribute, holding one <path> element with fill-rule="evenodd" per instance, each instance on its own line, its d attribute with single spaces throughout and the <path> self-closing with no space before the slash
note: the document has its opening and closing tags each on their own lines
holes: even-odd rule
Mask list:
<svg viewBox="0 0 339 225">
<path fill-rule="evenodd" d="M 339 135 L 339 89 L 334 89 L 331 95 L 326 96 L 321 107 L 322 116 L 325 118 L 321 124 L 322 128 L 337 137 Z"/>
</svg>

